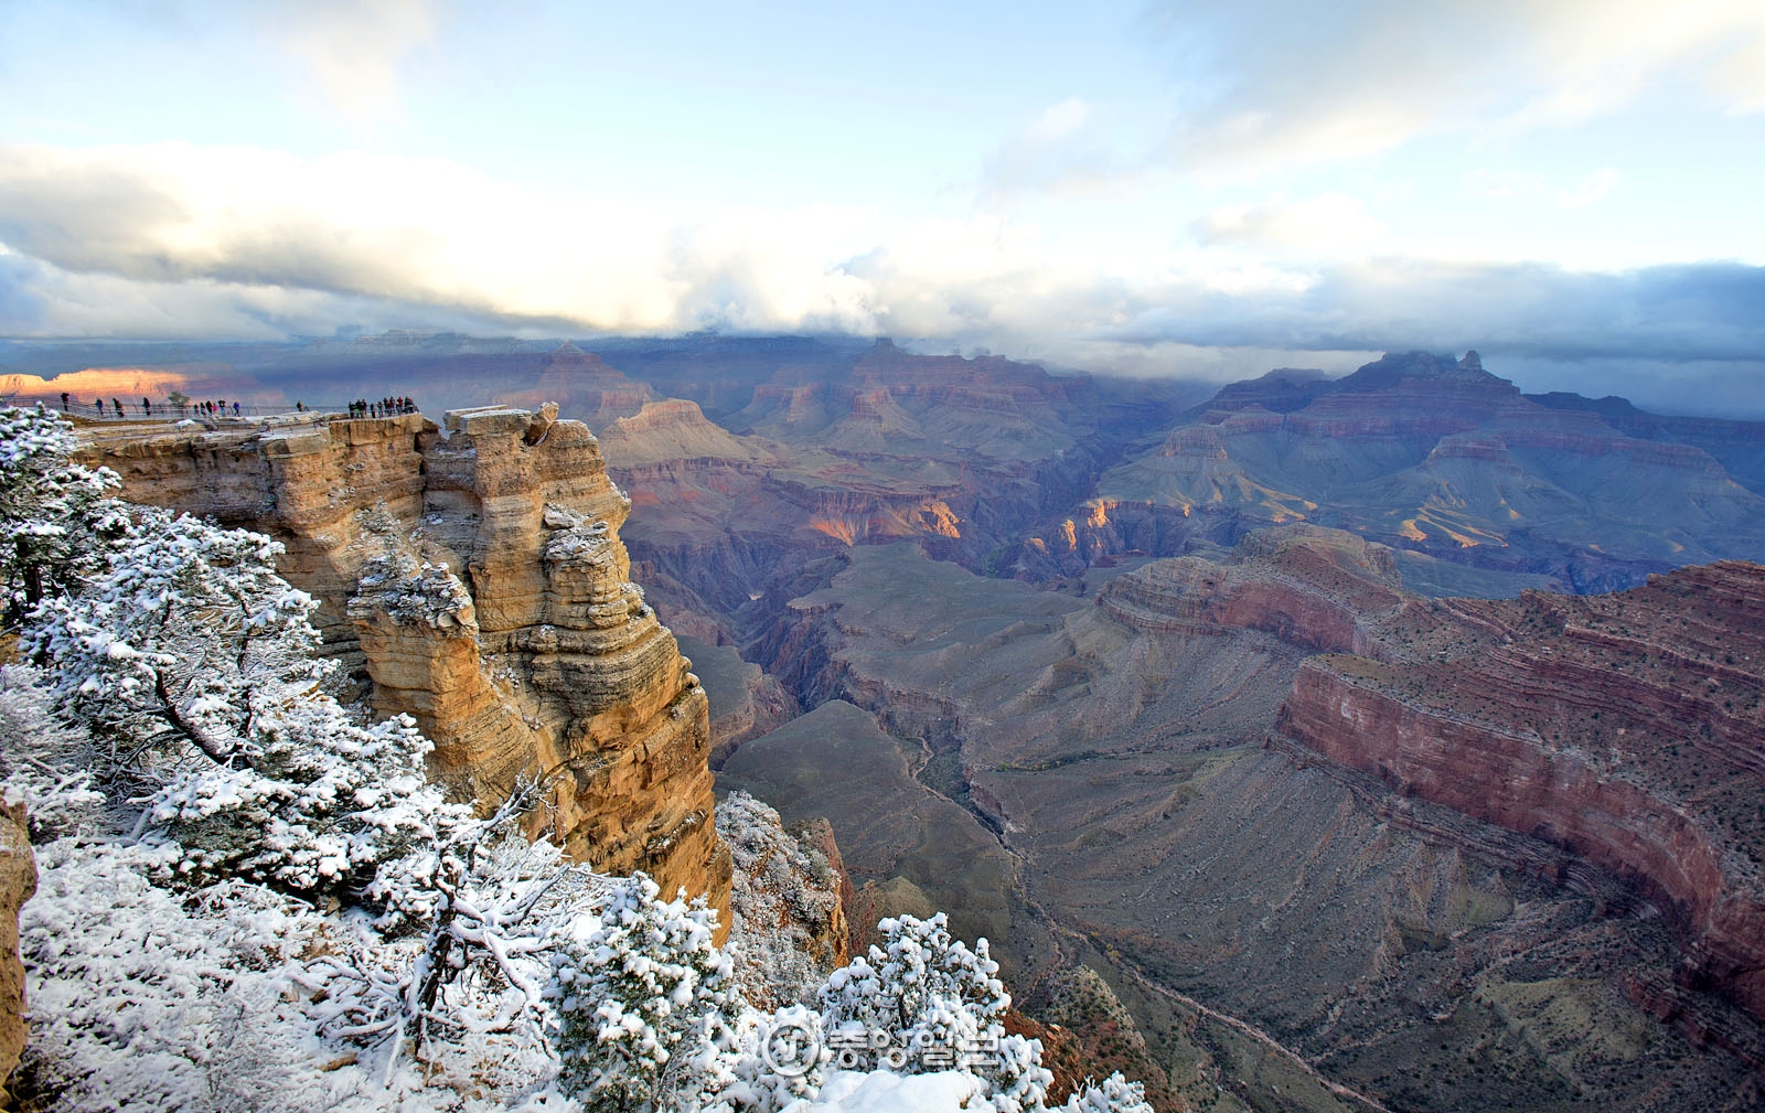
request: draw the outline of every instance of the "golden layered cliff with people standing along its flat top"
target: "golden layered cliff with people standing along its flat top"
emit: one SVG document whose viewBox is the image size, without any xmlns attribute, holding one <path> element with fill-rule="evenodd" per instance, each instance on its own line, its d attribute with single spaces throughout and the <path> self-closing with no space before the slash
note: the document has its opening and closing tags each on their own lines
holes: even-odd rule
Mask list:
<svg viewBox="0 0 1765 1113">
<path fill-rule="evenodd" d="M 630 499 L 556 413 L 101 430 L 85 455 L 129 499 L 284 542 L 328 647 L 418 720 L 436 778 L 485 804 L 544 780 L 530 833 L 727 910 L 704 688 L 630 582 Z"/>
</svg>

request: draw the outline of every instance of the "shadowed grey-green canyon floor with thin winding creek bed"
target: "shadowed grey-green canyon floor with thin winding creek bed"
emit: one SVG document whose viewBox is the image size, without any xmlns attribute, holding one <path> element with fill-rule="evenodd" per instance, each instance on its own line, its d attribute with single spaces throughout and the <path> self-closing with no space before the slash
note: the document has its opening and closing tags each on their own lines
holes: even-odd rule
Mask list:
<svg viewBox="0 0 1765 1113">
<path fill-rule="evenodd" d="M 778 644 L 810 700 L 874 718 L 822 704 L 738 750 L 725 783 L 830 815 L 879 910 L 960 908 L 1031 995 L 1068 960 L 1105 972 L 1191 1104 L 1290 1108 L 1276 1076 L 1303 1062 L 1391 1108 L 1747 1108 L 1756 1076 L 1733 1051 L 1756 1055 L 1758 1025 L 1675 986 L 1686 940 L 1663 908 L 1557 843 L 1269 737 L 1313 649 L 1377 649 L 1368 616 L 1437 607 L 1380 552 L 1253 534 L 1236 563 L 1153 563 L 1064 596 L 856 549 Z M 1170 591 L 1209 570 L 1220 596 Z M 1333 607 L 1364 628 L 1333 628 Z M 1650 1009 L 1696 1012 L 1730 1050 Z M 1221 1069 L 1237 1092 L 1205 1081 Z"/>
</svg>

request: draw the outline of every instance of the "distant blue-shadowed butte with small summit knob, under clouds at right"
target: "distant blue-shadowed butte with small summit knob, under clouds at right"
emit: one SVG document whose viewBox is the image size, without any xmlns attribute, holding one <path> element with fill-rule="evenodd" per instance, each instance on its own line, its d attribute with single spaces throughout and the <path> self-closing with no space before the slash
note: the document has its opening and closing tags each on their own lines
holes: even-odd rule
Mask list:
<svg viewBox="0 0 1765 1113">
<path fill-rule="evenodd" d="M 1271 372 L 1190 409 L 1160 446 L 1101 476 L 1093 513 L 1040 529 L 1013 559 L 1038 579 L 1077 575 L 1103 556 L 1179 556 L 1313 522 L 1407 563 L 1479 570 L 1488 594 L 1539 582 L 1516 577 L 1613 591 L 1765 552 L 1765 497 L 1747 480 L 1765 474 L 1761 443 L 1758 423 L 1546 406 L 1477 353 L 1387 355 L 1341 379 Z M 1479 579 L 1446 577 L 1430 594 Z"/>
</svg>

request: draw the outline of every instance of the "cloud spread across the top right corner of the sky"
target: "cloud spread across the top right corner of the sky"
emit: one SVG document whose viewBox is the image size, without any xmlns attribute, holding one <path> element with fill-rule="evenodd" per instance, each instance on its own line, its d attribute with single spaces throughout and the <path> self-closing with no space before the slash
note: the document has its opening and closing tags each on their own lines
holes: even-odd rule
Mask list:
<svg viewBox="0 0 1765 1113">
<path fill-rule="evenodd" d="M 1177 86 L 1165 157 L 1205 173 L 1580 123 L 1675 81 L 1726 111 L 1765 109 L 1753 0 L 1170 0 L 1153 23 Z"/>
</svg>

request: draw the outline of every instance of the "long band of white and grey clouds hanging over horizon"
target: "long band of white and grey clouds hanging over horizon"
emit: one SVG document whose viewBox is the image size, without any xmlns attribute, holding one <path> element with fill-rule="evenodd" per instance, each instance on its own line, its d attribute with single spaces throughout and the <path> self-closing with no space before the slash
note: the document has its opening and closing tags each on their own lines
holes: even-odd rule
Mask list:
<svg viewBox="0 0 1765 1113">
<path fill-rule="evenodd" d="M 1604 180 L 1581 185 L 1594 194 Z M 1341 369 L 1410 347 L 1649 365 L 1661 381 L 1693 362 L 1765 372 L 1765 268 L 1574 273 L 1364 250 L 1303 265 L 1257 250 L 1340 235 L 1373 236 L 1377 222 L 1338 194 L 1271 198 L 1211 215 L 1198 249 L 1128 266 L 1004 213 L 891 222 L 803 206 L 672 220 L 434 159 L 0 148 L 0 333 L 720 328 L 893 333 L 1138 374 Z"/>
</svg>

